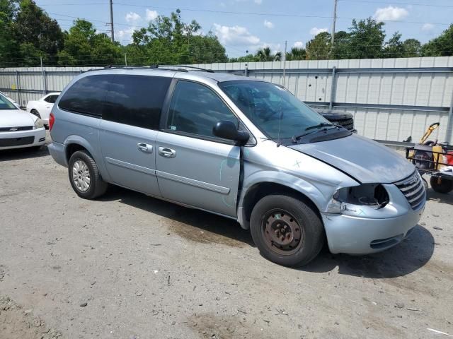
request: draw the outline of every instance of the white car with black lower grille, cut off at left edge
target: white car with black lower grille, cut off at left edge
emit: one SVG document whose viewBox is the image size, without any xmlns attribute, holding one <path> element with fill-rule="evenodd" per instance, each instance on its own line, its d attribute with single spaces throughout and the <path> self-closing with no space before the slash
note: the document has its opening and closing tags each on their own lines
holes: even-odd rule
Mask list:
<svg viewBox="0 0 453 339">
<path fill-rule="evenodd" d="M 45 128 L 35 115 L 18 109 L 0 94 L 0 150 L 39 148 L 45 143 Z"/>
</svg>

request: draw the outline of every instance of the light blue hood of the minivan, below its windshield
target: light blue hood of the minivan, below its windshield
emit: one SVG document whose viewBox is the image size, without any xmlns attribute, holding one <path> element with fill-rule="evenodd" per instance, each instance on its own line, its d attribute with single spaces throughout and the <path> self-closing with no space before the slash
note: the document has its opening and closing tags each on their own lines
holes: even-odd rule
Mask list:
<svg viewBox="0 0 453 339">
<path fill-rule="evenodd" d="M 398 182 L 415 170 L 411 162 L 394 150 L 356 134 L 288 147 L 326 162 L 364 184 Z"/>
</svg>

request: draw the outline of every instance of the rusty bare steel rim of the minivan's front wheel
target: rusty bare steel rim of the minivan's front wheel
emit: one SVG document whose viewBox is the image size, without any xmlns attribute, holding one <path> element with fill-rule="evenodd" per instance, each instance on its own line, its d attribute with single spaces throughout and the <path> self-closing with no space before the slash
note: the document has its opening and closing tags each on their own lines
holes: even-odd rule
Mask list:
<svg viewBox="0 0 453 339">
<path fill-rule="evenodd" d="M 304 232 L 286 210 L 272 210 L 263 218 L 261 227 L 265 244 L 281 255 L 291 255 L 304 243 Z"/>
</svg>

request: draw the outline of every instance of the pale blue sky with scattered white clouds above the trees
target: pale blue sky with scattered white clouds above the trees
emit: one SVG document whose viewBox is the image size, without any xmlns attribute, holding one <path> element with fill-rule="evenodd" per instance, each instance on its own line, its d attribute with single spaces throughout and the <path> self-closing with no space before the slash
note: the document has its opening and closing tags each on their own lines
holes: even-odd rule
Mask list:
<svg viewBox="0 0 453 339">
<path fill-rule="evenodd" d="M 156 16 L 181 9 L 183 21 L 195 19 L 202 33 L 212 31 L 229 57 L 254 53 L 262 47 L 274 52 L 304 47 L 324 30 L 331 32 L 334 0 L 115 0 L 115 40 L 131 42 L 134 29 L 147 27 Z M 74 18 L 91 21 L 99 32 L 110 29 L 108 0 L 35 0 L 58 20 L 63 30 Z M 234 13 L 231 13 L 234 12 Z M 399 31 L 402 39 L 428 42 L 453 23 L 452 0 L 338 0 L 336 31 L 348 30 L 351 19 L 372 17 L 386 24 L 387 38 Z"/>
</svg>

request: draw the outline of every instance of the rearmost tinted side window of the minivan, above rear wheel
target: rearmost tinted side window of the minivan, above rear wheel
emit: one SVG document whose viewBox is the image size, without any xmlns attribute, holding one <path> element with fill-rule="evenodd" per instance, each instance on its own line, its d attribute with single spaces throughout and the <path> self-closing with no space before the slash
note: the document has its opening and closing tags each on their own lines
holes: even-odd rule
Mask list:
<svg viewBox="0 0 453 339">
<path fill-rule="evenodd" d="M 95 117 L 102 116 L 102 104 L 111 75 L 86 76 L 74 83 L 59 101 L 59 108 Z"/>
</svg>

